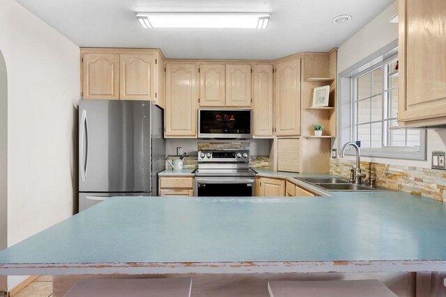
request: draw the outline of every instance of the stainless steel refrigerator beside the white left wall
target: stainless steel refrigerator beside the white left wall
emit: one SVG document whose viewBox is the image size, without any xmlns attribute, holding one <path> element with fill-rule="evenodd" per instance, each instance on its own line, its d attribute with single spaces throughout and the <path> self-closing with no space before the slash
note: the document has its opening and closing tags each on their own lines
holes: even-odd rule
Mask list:
<svg viewBox="0 0 446 297">
<path fill-rule="evenodd" d="M 147 101 L 79 100 L 79 211 L 113 196 L 156 196 L 163 110 Z"/>
</svg>

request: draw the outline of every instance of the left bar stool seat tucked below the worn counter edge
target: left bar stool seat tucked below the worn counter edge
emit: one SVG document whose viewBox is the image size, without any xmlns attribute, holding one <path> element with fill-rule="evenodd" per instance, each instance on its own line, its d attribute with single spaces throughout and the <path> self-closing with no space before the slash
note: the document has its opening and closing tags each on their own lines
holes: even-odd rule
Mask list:
<svg viewBox="0 0 446 297">
<path fill-rule="evenodd" d="M 79 280 L 64 297 L 190 297 L 191 278 L 89 278 Z"/>
</svg>

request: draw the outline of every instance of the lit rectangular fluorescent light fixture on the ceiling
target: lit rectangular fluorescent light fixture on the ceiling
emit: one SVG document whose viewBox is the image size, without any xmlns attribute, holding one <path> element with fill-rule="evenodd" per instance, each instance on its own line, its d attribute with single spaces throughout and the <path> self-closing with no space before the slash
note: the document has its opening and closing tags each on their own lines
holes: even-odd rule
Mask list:
<svg viewBox="0 0 446 297">
<path fill-rule="evenodd" d="M 269 13 L 137 13 L 144 28 L 266 29 Z"/>
</svg>

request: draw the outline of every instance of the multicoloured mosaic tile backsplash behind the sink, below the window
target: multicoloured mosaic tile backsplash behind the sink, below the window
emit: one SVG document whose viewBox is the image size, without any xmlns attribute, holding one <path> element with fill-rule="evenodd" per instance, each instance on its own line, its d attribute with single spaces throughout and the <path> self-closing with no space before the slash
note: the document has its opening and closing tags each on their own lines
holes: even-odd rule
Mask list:
<svg viewBox="0 0 446 297">
<path fill-rule="evenodd" d="M 350 178 L 355 161 L 330 159 L 330 173 Z M 413 166 L 397 166 L 374 162 L 361 162 L 367 179 L 376 179 L 378 186 L 446 202 L 446 172 Z"/>
</svg>

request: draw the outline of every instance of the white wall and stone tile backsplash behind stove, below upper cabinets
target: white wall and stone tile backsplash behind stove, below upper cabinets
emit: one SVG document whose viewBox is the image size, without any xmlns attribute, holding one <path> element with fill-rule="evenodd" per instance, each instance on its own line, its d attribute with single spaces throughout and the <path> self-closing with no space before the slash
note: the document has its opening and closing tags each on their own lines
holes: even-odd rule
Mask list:
<svg viewBox="0 0 446 297">
<path fill-rule="evenodd" d="M 166 140 L 166 154 L 171 161 L 176 155 L 176 148 L 182 147 L 183 152 L 189 156 L 185 158 L 183 168 L 193 169 L 198 167 L 198 150 L 249 150 L 251 155 L 249 165 L 252 168 L 269 168 L 270 142 L 268 139 L 249 139 L 245 141 L 205 141 L 201 139 L 176 139 Z M 167 162 L 166 162 L 167 163 Z M 167 169 L 170 166 L 167 165 Z"/>
</svg>

